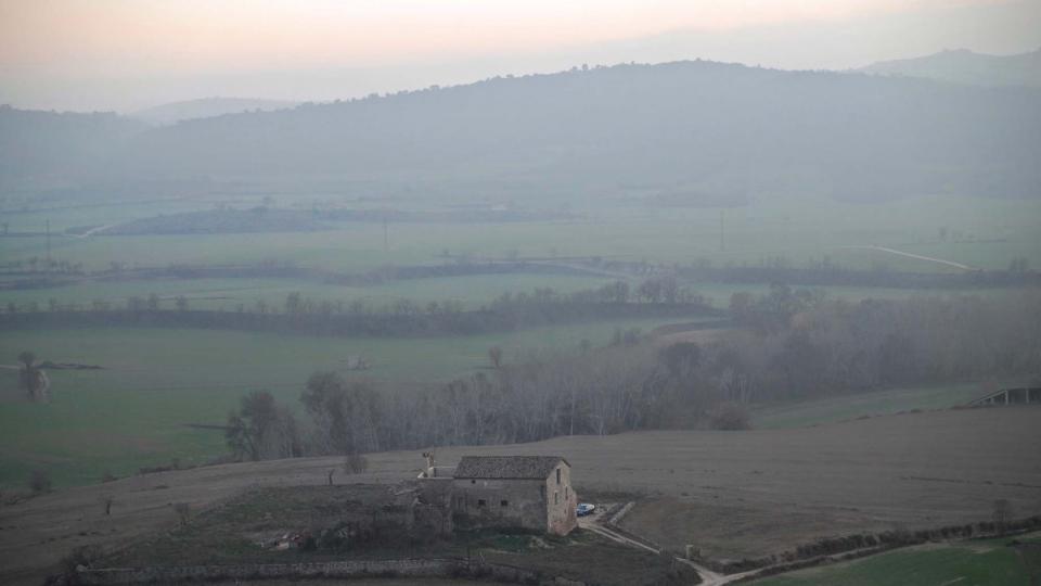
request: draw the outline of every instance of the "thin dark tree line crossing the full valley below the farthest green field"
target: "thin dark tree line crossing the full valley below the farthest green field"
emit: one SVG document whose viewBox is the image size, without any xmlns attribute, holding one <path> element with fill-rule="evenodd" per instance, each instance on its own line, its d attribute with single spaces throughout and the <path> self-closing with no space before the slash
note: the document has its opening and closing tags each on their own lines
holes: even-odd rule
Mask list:
<svg viewBox="0 0 1041 586">
<path fill-rule="evenodd" d="M 127 267 L 112 262 L 105 270 L 86 272 L 79 263 L 50 260 L 39 257 L 16 259 L 0 266 L 0 272 L 21 276 L 21 279 L 3 284 L 5 289 L 34 290 L 74 284 L 86 280 L 143 280 L 143 279 L 297 279 L 349 286 L 370 286 L 397 280 L 464 277 L 478 275 L 510 275 L 522 272 L 551 275 L 589 275 L 609 271 L 625 273 L 632 279 L 678 281 L 680 290 L 690 291 L 691 283 L 789 283 L 801 286 L 881 286 L 890 289 L 978 289 L 1013 288 L 1041 284 L 1041 272 L 1032 270 L 1026 257 L 1010 260 L 1006 270 L 972 270 L 959 273 L 911 272 L 890 270 L 885 262 L 876 262 L 870 269 L 857 269 L 824 256 L 797 264 L 784 256 L 769 256 L 757 263 L 728 263 L 714 265 L 701 257 L 686 265 L 654 264 L 646 260 L 605 259 L 597 256 L 573 258 L 516 258 L 507 255 L 501 259 L 480 259 L 465 255 L 452 256 L 442 251 L 446 262 L 441 265 L 385 266 L 364 272 L 339 272 L 313 267 L 300 267 L 293 260 L 266 258 L 246 265 L 184 265 L 167 267 Z M 642 285 L 643 283 L 641 283 Z M 653 283 L 652 283 L 653 285 Z M 633 292 L 639 288 L 633 288 Z M 666 291 L 663 291 L 665 294 Z M 98 301 L 91 302 L 99 303 Z M 111 302 L 100 302 L 111 303 Z M 39 304 L 37 304 L 39 305 Z M 69 306 L 75 308 L 75 305 Z"/>
</svg>

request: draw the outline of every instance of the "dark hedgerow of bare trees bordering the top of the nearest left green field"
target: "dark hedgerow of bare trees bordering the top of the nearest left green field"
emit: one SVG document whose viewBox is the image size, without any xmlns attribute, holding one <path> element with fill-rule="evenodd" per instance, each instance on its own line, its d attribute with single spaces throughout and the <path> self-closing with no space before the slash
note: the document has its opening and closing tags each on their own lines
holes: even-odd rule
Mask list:
<svg viewBox="0 0 1041 586">
<path fill-rule="evenodd" d="M 361 300 L 349 303 L 319 301 L 299 292 L 281 305 L 264 300 L 235 310 L 192 309 L 184 296 L 162 300 L 156 294 L 131 296 L 124 303 L 95 301 L 74 307 L 51 300 L 44 310 L 37 303 L 9 303 L 0 314 L 8 328 L 62 328 L 136 326 L 278 331 L 317 335 L 441 335 L 509 331 L 517 328 L 578 320 L 629 317 L 683 317 L 723 313 L 708 300 L 674 280 L 647 279 L 630 290 L 617 281 L 600 289 L 561 293 L 551 288 L 503 294 L 478 309 L 466 310 L 448 300 L 417 303 L 401 298 L 373 306 Z"/>
</svg>

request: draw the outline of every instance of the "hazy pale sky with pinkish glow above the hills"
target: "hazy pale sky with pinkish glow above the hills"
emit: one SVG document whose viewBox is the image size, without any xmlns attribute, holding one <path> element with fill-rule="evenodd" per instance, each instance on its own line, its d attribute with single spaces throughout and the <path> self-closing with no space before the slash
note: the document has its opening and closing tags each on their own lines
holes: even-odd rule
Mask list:
<svg viewBox="0 0 1041 586">
<path fill-rule="evenodd" d="M 847 68 L 1041 46 L 1041 0 L 0 0 L 0 102 L 330 100 L 576 63 Z"/>
</svg>

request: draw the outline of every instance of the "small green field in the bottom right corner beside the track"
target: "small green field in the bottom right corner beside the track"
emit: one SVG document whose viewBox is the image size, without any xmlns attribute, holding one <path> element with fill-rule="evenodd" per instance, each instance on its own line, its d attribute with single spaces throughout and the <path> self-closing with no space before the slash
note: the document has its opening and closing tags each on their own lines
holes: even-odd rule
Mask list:
<svg viewBox="0 0 1041 586">
<path fill-rule="evenodd" d="M 929 544 L 773 576 L 757 586 L 1031 586 L 1041 577 L 1041 536 Z"/>
</svg>

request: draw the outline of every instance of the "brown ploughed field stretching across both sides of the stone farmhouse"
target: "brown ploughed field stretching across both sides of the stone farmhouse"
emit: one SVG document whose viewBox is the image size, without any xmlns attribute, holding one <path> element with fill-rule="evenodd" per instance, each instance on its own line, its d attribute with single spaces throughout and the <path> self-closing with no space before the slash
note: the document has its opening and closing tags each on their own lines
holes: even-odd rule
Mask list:
<svg viewBox="0 0 1041 586">
<path fill-rule="evenodd" d="M 1041 408 L 877 417 L 750 432 L 648 432 L 562 437 L 438 451 L 562 454 L 581 491 L 641 495 L 628 528 L 715 557 L 756 556 L 824 535 L 984 521 L 997 498 L 1016 517 L 1041 512 Z M 396 481 L 420 450 L 371 455 L 370 472 L 342 482 Z M 174 504 L 201 510 L 243 488 L 321 484 L 338 458 L 232 464 L 60 491 L 0 508 L 0 583 L 38 584 L 75 546 L 116 547 L 177 522 Z M 115 498 L 112 515 L 101 499 Z M 581 493 L 580 493 L 581 495 Z"/>
</svg>

